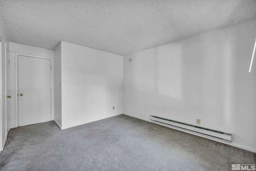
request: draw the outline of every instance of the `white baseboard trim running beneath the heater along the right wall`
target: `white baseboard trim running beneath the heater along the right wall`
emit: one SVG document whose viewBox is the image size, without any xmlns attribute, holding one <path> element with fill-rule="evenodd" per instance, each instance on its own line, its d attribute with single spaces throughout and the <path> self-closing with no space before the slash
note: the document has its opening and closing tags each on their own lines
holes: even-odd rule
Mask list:
<svg viewBox="0 0 256 171">
<path fill-rule="evenodd" d="M 256 149 L 252 149 L 252 148 L 249 148 L 249 147 L 245 147 L 245 146 L 242 146 L 242 145 L 238 145 L 238 144 L 236 144 L 236 143 L 228 143 L 228 142 L 220 141 L 220 140 L 218 140 L 218 139 L 214 139 L 214 138 L 211 138 L 211 137 L 206 137 L 206 136 L 203 136 L 203 135 L 194 133 L 194 132 L 192 132 L 192 131 L 186 131 L 186 130 L 183 130 L 183 129 L 179 129 L 179 128 L 177 128 L 177 127 L 168 126 L 168 125 L 165 125 L 165 124 L 161 124 L 161 123 L 158 123 L 158 122 L 151 121 L 150 119 L 145 119 L 145 118 L 142 118 L 142 117 L 130 115 L 130 114 L 128 114 L 128 113 L 123 113 L 123 114 L 124 114 L 124 115 L 128 115 L 128 116 L 131 116 L 131 117 L 135 117 L 135 118 L 138 118 L 138 119 L 142 119 L 142 120 L 144 120 L 144 121 L 148 121 L 148 122 L 151 122 L 151 123 L 155 123 L 155 124 L 158 124 L 158 125 L 162 125 L 162 126 L 165 126 L 165 127 L 169 127 L 169 128 L 172 128 L 172 129 L 176 129 L 176 130 L 178 130 L 178 131 L 190 133 L 190 134 L 192 134 L 192 135 L 196 135 L 196 136 L 199 136 L 199 137 L 203 137 L 203 138 L 207 138 L 207 139 L 210 139 L 210 140 L 213 140 L 213 141 L 217 141 L 217 142 L 219 142 L 219 143 L 231 145 L 231 146 L 233 146 L 233 147 L 237 147 L 237 148 L 240 148 L 240 149 L 244 149 L 244 150 L 247 150 L 247 151 L 251 151 L 251 152 L 253 152 L 253 153 L 256 153 Z M 149 117 L 150 117 L 150 115 L 149 115 Z"/>
</svg>

